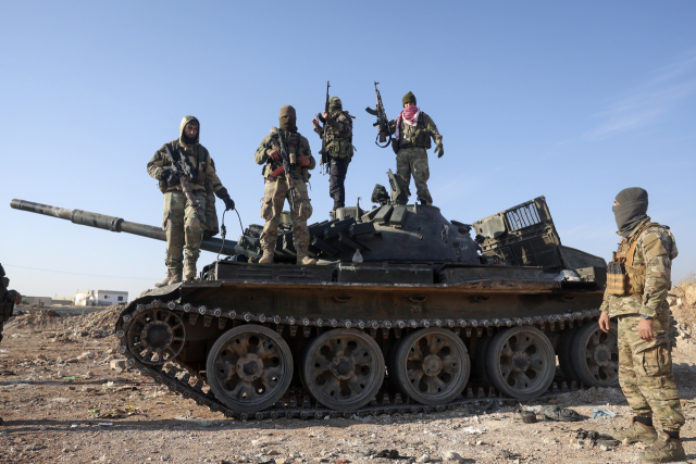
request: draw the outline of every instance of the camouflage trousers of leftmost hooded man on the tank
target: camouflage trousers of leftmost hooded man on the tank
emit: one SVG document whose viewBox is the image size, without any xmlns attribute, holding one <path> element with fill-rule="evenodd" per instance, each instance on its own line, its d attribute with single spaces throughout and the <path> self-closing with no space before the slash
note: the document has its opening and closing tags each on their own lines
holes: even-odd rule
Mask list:
<svg viewBox="0 0 696 464">
<path fill-rule="evenodd" d="M 194 197 L 200 214 L 206 214 L 206 191 L 195 191 Z M 164 193 L 162 215 L 162 228 L 166 231 L 166 267 L 184 268 L 184 258 L 190 263 L 196 263 L 200 255 L 203 225 L 196 214 L 196 209 L 187 204 L 186 195 L 178 190 Z"/>
</svg>

